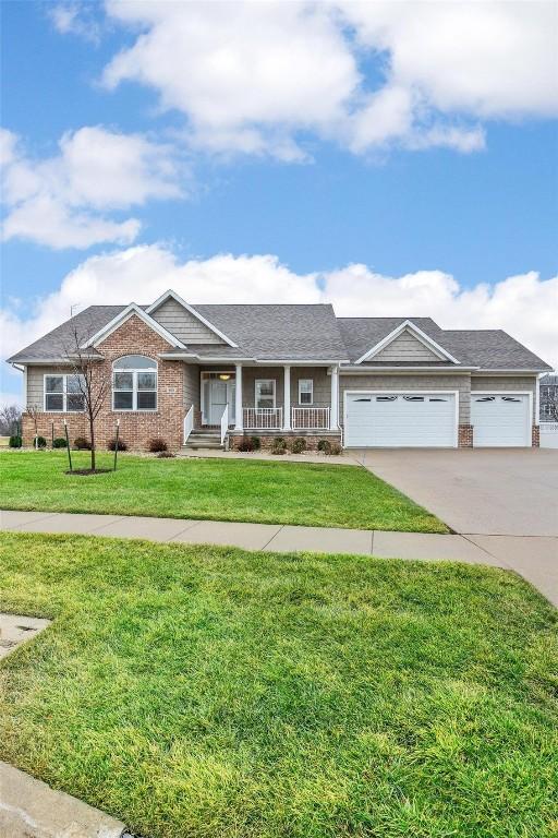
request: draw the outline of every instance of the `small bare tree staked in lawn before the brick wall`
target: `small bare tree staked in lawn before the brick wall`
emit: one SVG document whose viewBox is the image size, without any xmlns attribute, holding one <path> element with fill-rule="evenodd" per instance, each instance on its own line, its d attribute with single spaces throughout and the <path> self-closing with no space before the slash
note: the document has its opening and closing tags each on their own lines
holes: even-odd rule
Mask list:
<svg viewBox="0 0 558 838">
<path fill-rule="evenodd" d="M 93 330 L 90 331 L 93 334 Z M 83 404 L 84 412 L 89 423 L 89 441 L 92 444 L 92 471 L 96 468 L 96 438 L 95 422 L 102 409 L 107 394 L 111 388 L 110 367 L 102 363 L 102 359 L 93 347 L 87 347 L 89 335 L 84 335 L 76 325 L 73 326 L 70 344 L 64 347 L 64 358 L 72 368 L 75 376 L 72 382 L 72 392 L 66 393 L 66 399 L 75 397 Z"/>
</svg>

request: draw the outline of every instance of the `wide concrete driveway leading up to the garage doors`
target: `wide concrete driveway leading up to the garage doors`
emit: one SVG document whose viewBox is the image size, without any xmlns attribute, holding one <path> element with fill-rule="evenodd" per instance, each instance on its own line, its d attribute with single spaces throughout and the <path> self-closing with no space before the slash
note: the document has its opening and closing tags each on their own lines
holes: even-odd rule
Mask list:
<svg viewBox="0 0 558 838">
<path fill-rule="evenodd" d="M 558 451 L 351 453 L 558 606 Z"/>
</svg>

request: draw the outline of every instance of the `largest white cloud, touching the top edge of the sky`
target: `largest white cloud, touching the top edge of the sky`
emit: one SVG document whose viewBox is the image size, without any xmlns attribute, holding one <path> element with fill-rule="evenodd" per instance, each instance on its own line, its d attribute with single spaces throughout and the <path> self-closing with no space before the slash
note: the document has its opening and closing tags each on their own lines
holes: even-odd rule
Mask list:
<svg viewBox="0 0 558 838">
<path fill-rule="evenodd" d="M 558 112 L 554 2 L 106 0 L 140 29 L 106 67 L 158 92 L 210 152 L 305 156 L 300 137 L 357 154 L 484 146 L 490 119 Z M 366 68 L 381 77 L 369 89 Z"/>
</svg>

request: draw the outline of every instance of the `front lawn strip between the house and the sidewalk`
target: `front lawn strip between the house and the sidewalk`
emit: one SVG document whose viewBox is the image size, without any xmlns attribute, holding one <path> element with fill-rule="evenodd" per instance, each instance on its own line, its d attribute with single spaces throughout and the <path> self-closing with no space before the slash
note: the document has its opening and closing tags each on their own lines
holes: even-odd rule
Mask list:
<svg viewBox="0 0 558 838">
<path fill-rule="evenodd" d="M 74 452 L 74 468 L 88 465 Z M 98 466 L 109 466 L 108 454 Z M 65 452 L 0 454 L 0 508 L 447 532 L 435 515 L 359 466 L 121 456 L 69 476 Z"/>
</svg>

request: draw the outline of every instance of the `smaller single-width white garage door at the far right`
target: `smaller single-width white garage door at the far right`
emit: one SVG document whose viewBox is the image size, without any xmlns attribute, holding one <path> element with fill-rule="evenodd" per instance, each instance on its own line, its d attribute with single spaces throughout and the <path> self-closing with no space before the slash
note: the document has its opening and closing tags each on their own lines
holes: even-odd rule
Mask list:
<svg viewBox="0 0 558 838">
<path fill-rule="evenodd" d="M 475 447 L 531 445 L 530 398 L 513 393 L 471 393 Z"/>
</svg>

